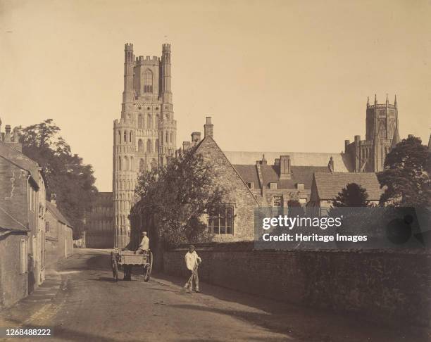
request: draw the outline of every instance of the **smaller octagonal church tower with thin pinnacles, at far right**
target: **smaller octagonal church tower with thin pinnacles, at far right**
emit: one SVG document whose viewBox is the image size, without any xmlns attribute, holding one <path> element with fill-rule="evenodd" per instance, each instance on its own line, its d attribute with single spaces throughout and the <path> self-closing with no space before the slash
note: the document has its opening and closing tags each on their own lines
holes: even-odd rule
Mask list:
<svg viewBox="0 0 431 342">
<path fill-rule="evenodd" d="M 398 106 L 394 104 L 374 104 L 367 101 L 366 139 L 356 135 L 354 142 L 344 141 L 344 152 L 349 157 L 354 172 L 380 172 L 383 170 L 387 153 L 399 143 Z"/>
</svg>

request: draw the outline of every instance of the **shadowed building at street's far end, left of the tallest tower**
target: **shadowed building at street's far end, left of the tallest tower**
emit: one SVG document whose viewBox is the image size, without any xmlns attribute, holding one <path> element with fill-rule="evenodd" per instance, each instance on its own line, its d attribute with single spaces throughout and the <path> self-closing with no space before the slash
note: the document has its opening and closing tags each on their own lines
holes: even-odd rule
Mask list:
<svg viewBox="0 0 431 342">
<path fill-rule="evenodd" d="M 99 192 L 96 194 L 91 213 L 87 215 L 85 224 L 86 247 L 113 248 L 113 217 L 112 192 Z"/>
</svg>

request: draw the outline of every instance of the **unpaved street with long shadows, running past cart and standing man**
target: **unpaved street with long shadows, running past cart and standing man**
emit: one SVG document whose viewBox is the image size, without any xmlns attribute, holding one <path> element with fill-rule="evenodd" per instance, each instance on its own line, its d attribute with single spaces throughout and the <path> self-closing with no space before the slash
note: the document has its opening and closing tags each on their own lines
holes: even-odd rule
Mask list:
<svg viewBox="0 0 431 342">
<path fill-rule="evenodd" d="M 183 281 L 134 274 L 115 283 L 109 251 L 75 249 L 35 293 L 0 312 L 0 324 L 51 327 L 46 341 L 425 341 L 205 283 L 184 293 Z"/>
</svg>

